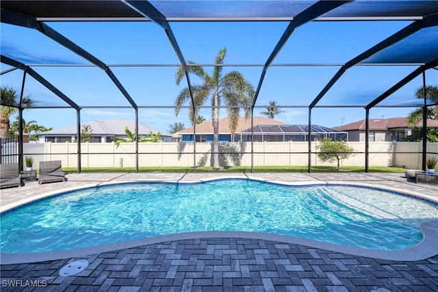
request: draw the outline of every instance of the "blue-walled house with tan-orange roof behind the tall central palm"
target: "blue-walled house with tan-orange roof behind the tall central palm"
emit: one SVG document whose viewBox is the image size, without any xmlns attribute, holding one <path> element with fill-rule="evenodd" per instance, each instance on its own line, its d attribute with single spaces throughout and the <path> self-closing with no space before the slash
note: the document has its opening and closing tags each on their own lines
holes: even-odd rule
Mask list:
<svg viewBox="0 0 438 292">
<path fill-rule="evenodd" d="M 278 120 L 272 120 L 270 118 L 255 117 L 253 126 L 259 124 L 274 125 L 285 124 Z M 219 120 L 219 142 L 237 142 L 241 141 L 241 133 L 251 127 L 251 118 L 239 118 L 237 127 L 235 129 L 235 136 L 231 137 L 231 131 L 229 129 L 229 118 L 221 118 Z M 181 136 L 181 142 L 193 142 L 193 127 L 183 129 L 177 133 Z M 248 135 L 248 133 L 244 133 Z M 196 142 L 213 142 L 213 123 L 211 121 L 201 122 L 196 124 Z"/>
</svg>

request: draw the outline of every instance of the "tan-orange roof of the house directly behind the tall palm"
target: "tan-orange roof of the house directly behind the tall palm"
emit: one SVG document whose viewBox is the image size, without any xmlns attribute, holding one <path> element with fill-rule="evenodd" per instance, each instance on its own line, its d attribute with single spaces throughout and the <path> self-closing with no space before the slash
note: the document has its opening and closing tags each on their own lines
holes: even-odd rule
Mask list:
<svg viewBox="0 0 438 292">
<path fill-rule="evenodd" d="M 270 118 L 262 118 L 262 117 L 254 117 L 254 123 L 253 125 L 256 126 L 257 124 L 285 124 L 284 122 L 280 122 L 278 120 L 273 120 Z M 237 127 L 235 129 L 235 133 L 240 133 L 248 128 L 251 127 L 251 119 L 248 118 L 239 118 L 239 122 L 237 122 Z M 186 129 L 183 129 L 176 134 L 186 134 L 190 133 L 193 134 L 193 127 L 189 127 Z M 212 134 L 213 133 L 213 123 L 211 121 L 201 122 L 201 124 L 196 124 L 196 133 L 197 134 Z M 221 118 L 219 120 L 219 133 L 231 133 L 229 128 L 229 118 Z"/>
</svg>

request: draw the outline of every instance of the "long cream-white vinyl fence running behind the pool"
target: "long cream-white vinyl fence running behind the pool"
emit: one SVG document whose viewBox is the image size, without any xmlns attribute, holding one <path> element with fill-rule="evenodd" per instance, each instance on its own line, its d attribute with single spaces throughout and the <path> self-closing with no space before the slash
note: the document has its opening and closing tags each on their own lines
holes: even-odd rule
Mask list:
<svg viewBox="0 0 438 292">
<path fill-rule="evenodd" d="M 357 154 L 341 161 L 345 166 L 365 165 L 365 143 L 348 142 Z M 307 142 L 254 142 L 253 163 L 259 165 L 307 165 Z M 311 143 L 315 153 L 318 142 Z M 428 152 L 438 152 L 438 143 L 428 143 Z M 42 150 L 44 148 L 44 150 Z M 421 169 L 421 142 L 370 142 L 370 166 L 398 166 Z M 34 168 L 41 160 L 62 160 L 65 168 L 77 168 L 76 143 L 25 144 L 25 153 L 44 153 L 34 157 Z M 135 167 L 136 146 L 134 143 L 83 143 L 81 144 L 81 166 L 83 168 Z M 192 167 L 194 161 L 193 143 L 139 143 L 139 163 L 142 166 L 184 166 Z M 251 165 L 251 143 L 221 143 L 220 165 Z M 418 152 L 409 154 L 405 152 Z M 27 155 L 25 155 L 27 156 Z M 433 155 L 428 155 L 433 156 Z M 435 155 L 438 157 L 438 155 Z M 196 143 L 196 165 L 211 165 L 211 143 Z M 311 155 L 312 165 L 322 163 L 317 155 Z"/>
</svg>

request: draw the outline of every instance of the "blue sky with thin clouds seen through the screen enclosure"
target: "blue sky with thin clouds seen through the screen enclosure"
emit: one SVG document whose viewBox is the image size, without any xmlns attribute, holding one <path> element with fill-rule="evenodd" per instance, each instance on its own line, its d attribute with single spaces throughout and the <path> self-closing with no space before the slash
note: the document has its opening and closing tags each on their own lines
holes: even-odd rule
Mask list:
<svg viewBox="0 0 438 292">
<path fill-rule="evenodd" d="M 105 64 L 179 64 L 179 59 L 164 33 L 151 22 L 138 23 L 47 23 Z M 287 22 L 268 23 L 170 23 L 186 60 L 211 64 L 218 51 L 227 48 L 225 64 L 264 64 L 287 27 Z M 336 64 L 337 66 L 272 66 L 268 69 L 254 109 L 260 116 L 265 105 L 275 100 L 280 106 L 307 106 L 340 68 L 366 49 L 409 25 L 409 22 L 313 22 L 298 27 L 289 38 L 274 64 Z M 435 30 L 436 31 L 436 30 Z M 38 31 L 1 24 L 1 53 L 25 64 L 89 64 L 85 59 L 68 51 Z M 1 71 L 10 68 L 1 64 Z M 36 72 L 80 106 L 128 106 L 129 103 L 114 83 L 96 67 L 34 66 Z M 187 85 L 175 84 L 175 66 L 164 67 L 111 67 L 127 92 L 140 106 L 172 106 L 177 94 Z M 347 70 L 327 92 L 318 105 L 366 105 L 385 92 L 416 66 L 357 66 Z M 211 72 L 211 67 L 206 67 Z M 261 66 L 229 66 L 224 72 L 239 70 L 255 87 L 259 83 Z M 21 89 L 23 72 L 15 70 L 1 75 L 1 85 Z M 192 83 L 198 80 L 192 77 Z M 438 71 L 426 72 L 426 83 L 438 84 Z M 419 105 L 413 94 L 422 86 L 417 77 L 389 96 L 384 105 Z M 66 105 L 29 75 L 25 95 L 30 95 L 38 106 Z M 209 103 L 207 104 L 209 105 Z M 276 116 L 290 124 L 307 124 L 308 109 L 283 107 Z M 376 108 L 370 118 L 407 116 L 413 108 Z M 201 111 L 207 120 L 209 109 Z M 226 116 L 221 111 L 221 118 Z M 30 109 L 25 120 L 36 120 L 44 127 L 54 129 L 76 122 L 73 109 Z M 133 109 L 81 110 L 81 122 L 90 120 L 134 119 Z M 335 127 L 365 118 L 365 109 L 315 108 L 313 124 Z M 171 108 L 139 110 L 143 124 L 168 131 L 174 122 L 190 126 L 187 111 L 175 116 Z"/>
</svg>

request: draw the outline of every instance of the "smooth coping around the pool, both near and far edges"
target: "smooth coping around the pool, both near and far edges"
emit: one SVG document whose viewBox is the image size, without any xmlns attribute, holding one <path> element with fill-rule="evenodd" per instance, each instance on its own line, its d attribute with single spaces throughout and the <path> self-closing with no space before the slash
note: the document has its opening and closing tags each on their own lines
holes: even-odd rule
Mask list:
<svg viewBox="0 0 438 292">
<path fill-rule="evenodd" d="M 281 185 L 352 185 L 359 187 L 372 187 L 374 189 L 383 189 L 387 191 L 395 191 L 400 194 L 407 194 L 410 196 L 415 196 L 417 198 L 422 198 L 430 200 L 431 202 L 438 202 L 436 198 L 432 196 L 427 196 L 425 194 L 416 193 L 414 191 L 405 191 L 402 189 L 397 189 L 394 187 L 379 186 L 376 187 L 370 183 L 357 183 L 357 182 L 346 182 L 346 181 L 299 181 L 299 182 L 285 182 L 285 181 L 273 181 L 264 178 L 250 177 L 242 178 L 242 176 L 222 176 L 220 178 L 202 178 L 193 181 L 180 181 L 180 180 L 163 180 L 163 179 L 146 179 L 146 180 L 136 180 L 136 181 L 112 181 L 104 183 L 93 183 L 90 185 L 82 185 L 80 187 L 70 187 L 66 189 L 58 189 L 57 191 L 50 191 L 37 196 L 31 196 L 23 200 L 18 200 L 14 203 L 7 204 L 0 208 L 0 212 L 8 211 L 10 209 L 21 206 L 22 204 L 27 204 L 34 200 L 39 200 L 49 196 L 55 196 L 57 194 L 62 194 L 67 191 L 74 191 L 77 189 L 84 189 L 87 187 L 96 187 L 101 185 L 114 185 L 120 183 L 138 183 L 138 182 L 163 182 L 163 183 L 202 183 L 205 181 L 217 181 L 229 178 L 236 179 L 251 179 L 255 181 L 264 181 L 266 183 L 276 183 Z M 357 256 L 366 256 L 371 258 L 380 258 L 391 261 L 419 261 L 425 258 L 430 258 L 438 254 L 438 220 L 433 220 L 425 222 L 420 226 L 420 230 L 423 233 L 423 240 L 417 245 L 413 245 L 410 248 L 404 250 L 370 250 L 365 248 L 356 248 L 346 245 L 338 245 L 335 243 L 326 243 L 324 241 L 316 241 L 313 239 L 305 239 L 302 237 L 291 237 L 287 235 L 276 235 L 270 233 L 257 233 L 257 232 L 247 232 L 247 231 L 198 231 L 192 233 L 177 233 L 171 235 L 159 235 L 156 237 L 147 237 L 144 239 L 135 239 L 131 241 L 121 241 L 118 243 L 110 243 L 106 245 L 97 245 L 90 248 L 78 248 L 74 250 L 64 250 L 58 252 L 42 252 L 42 253 L 31 253 L 31 254 L 10 254 L 5 252 L 0 252 L 0 264 L 18 264 L 18 263 L 34 263 L 40 261 L 53 261 L 62 258 L 77 258 L 88 256 L 90 254 L 99 254 L 102 252 L 111 252 L 114 250 L 123 250 L 125 248 L 136 248 L 142 245 L 149 245 L 155 243 L 161 243 L 164 241 L 177 241 L 183 239 L 194 239 L 194 238 L 214 238 L 214 237 L 229 237 L 229 238 L 247 238 L 247 239 L 263 239 L 268 241 L 279 241 L 283 243 L 294 243 L 300 245 L 306 245 L 312 248 L 319 248 L 323 250 L 329 250 L 332 252 L 342 252 L 345 254 L 352 254 Z"/>
</svg>

